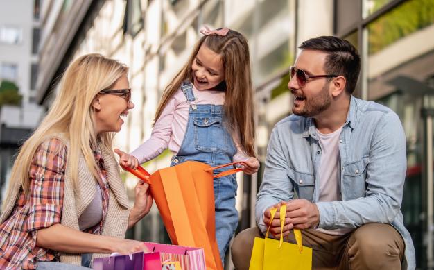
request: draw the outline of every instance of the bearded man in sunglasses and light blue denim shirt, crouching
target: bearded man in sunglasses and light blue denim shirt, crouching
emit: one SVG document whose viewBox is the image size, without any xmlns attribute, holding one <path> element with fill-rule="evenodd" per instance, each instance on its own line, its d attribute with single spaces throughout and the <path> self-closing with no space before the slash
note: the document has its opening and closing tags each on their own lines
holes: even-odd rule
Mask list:
<svg viewBox="0 0 434 270">
<path fill-rule="evenodd" d="M 397 114 L 357 99 L 361 60 L 347 40 L 306 40 L 290 67 L 293 115 L 272 130 L 257 194 L 258 227 L 232 244 L 236 269 L 249 268 L 254 237 L 281 233 L 313 248 L 313 269 L 415 269 L 415 249 L 403 226 L 406 136 Z M 296 196 L 295 196 L 296 195 Z"/>
</svg>

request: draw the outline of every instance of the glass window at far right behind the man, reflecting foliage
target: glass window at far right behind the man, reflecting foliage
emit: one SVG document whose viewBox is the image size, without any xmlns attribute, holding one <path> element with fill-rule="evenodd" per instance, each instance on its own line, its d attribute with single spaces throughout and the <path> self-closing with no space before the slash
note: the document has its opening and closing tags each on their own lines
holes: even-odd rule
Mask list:
<svg viewBox="0 0 434 270">
<path fill-rule="evenodd" d="M 424 117 L 433 108 L 434 1 L 409 0 L 367 26 L 367 99 L 399 115 L 406 135 L 407 174 L 401 210 L 424 269 Z"/>
</svg>

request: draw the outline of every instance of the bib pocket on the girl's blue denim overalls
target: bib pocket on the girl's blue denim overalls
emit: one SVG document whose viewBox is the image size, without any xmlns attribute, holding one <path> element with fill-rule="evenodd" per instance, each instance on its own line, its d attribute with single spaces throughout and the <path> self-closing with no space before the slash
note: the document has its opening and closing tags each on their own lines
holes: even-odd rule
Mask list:
<svg viewBox="0 0 434 270">
<path fill-rule="evenodd" d="M 199 151 L 229 151 L 228 133 L 221 117 L 194 117 L 194 144 Z"/>
</svg>

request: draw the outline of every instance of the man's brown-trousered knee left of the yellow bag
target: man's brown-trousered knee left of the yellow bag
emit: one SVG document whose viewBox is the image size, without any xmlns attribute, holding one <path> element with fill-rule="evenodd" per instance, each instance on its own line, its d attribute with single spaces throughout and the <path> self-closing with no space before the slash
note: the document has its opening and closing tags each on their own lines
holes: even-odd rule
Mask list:
<svg viewBox="0 0 434 270">
<path fill-rule="evenodd" d="M 231 246 L 232 261 L 237 270 L 249 268 L 254 237 L 263 237 L 258 227 L 248 228 L 238 233 Z"/>
</svg>

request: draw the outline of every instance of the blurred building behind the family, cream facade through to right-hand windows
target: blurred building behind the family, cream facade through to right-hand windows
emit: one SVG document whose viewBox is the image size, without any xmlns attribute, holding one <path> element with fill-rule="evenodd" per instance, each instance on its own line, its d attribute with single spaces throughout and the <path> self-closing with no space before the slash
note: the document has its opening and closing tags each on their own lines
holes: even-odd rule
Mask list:
<svg viewBox="0 0 434 270">
<path fill-rule="evenodd" d="M 49 1 L 49 0 L 47 0 Z M 116 146 L 132 151 L 152 130 L 157 103 L 167 83 L 182 67 L 200 35 L 202 24 L 229 26 L 250 44 L 252 78 L 256 88 L 257 151 L 263 164 L 272 127 L 290 115 L 292 96 L 288 70 L 302 41 L 338 35 L 352 42 L 363 58 L 356 96 L 390 106 L 401 117 L 408 145 L 408 175 L 403 214 L 414 235 L 418 267 L 426 266 L 426 187 L 424 158 L 426 118 L 434 87 L 433 1 L 431 0 L 107 0 L 94 19 L 78 33 L 72 57 L 103 53 L 130 67 L 134 110 Z M 128 9 L 127 6 L 130 8 Z M 125 21 L 125 10 L 128 19 Z M 413 10 L 413 11 L 412 11 Z M 48 33 L 48 32 L 47 32 Z M 48 43 L 46 43 L 48 44 Z M 48 65 L 48 62 L 42 62 Z M 401 76 L 401 78 L 400 78 Z M 406 77 L 402 79 L 402 76 Z M 410 79 L 410 81 L 408 81 Z M 46 78 L 52 81 L 53 78 Z M 166 167 L 164 152 L 148 162 L 155 171 Z M 254 201 L 263 166 L 252 177 L 238 176 L 237 207 L 241 228 L 254 226 Z M 134 178 L 125 174 L 131 191 Z M 428 219 L 430 219 L 428 217 Z M 432 217 L 431 217 L 432 219 Z M 167 240 L 153 209 L 131 232 L 137 239 Z"/>
</svg>

